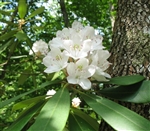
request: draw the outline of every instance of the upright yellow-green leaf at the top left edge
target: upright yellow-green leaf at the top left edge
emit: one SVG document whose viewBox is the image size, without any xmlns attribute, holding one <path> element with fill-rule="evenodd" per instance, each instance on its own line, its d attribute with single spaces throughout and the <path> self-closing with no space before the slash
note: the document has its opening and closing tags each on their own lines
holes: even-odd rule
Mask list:
<svg viewBox="0 0 150 131">
<path fill-rule="evenodd" d="M 19 17 L 23 19 L 27 13 L 27 3 L 26 0 L 19 0 L 18 3 L 18 13 Z"/>
</svg>

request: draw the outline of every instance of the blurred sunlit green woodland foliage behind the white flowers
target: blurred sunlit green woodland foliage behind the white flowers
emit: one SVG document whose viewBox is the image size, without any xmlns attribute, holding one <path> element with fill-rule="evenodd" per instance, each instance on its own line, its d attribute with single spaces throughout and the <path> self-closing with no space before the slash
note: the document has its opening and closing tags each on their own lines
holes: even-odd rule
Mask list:
<svg viewBox="0 0 150 131">
<path fill-rule="evenodd" d="M 45 9 L 27 19 L 20 27 L 18 1 L 0 2 L 0 101 L 36 89 L 51 79 L 51 76 L 43 73 L 45 67 L 41 61 L 29 55 L 29 50 L 37 40 L 42 39 L 48 43 L 56 31 L 70 26 L 74 20 L 93 26 L 103 36 L 105 47 L 110 48 L 116 0 L 67 0 L 65 7 L 62 2 L 64 1 L 27 0 L 25 19 L 42 6 Z M 64 21 L 63 13 L 68 17 L 68 24 Z M 38 90 L 16 102 L 44 95 L 47 90 L 48 88 Z M 13 105 L 14 102 L 0 109 L 0 130 L 9 126 L 17 117 L 19 111 L 12 113 Z"/>
</svg>

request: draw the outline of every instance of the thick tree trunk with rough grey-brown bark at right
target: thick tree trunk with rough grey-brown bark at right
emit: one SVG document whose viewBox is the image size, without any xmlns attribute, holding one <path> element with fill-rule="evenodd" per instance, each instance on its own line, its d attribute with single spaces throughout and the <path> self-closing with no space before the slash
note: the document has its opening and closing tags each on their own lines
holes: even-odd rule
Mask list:
<svg viewBox="0 0 150 131">
<path fill-rule="evenodd" d="M 118 0 L 109 74 L 150 78 L 150 0 Z M 149 105 L 118 102 L 150 119 Z M 115 121 L 115 120 L 114 120 Z M 105 122 L 99 131 L 113 131 Z"/>
</svg>

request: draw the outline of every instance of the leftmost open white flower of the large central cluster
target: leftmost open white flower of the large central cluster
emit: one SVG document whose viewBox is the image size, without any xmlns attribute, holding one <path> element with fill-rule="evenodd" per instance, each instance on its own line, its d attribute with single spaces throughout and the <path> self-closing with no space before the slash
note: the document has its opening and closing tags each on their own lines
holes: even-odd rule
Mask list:
<svg viewBox="0 0 150 131">
<path fill-rule="evenodd" d="M 46 73 L 54 73 L 64 69 L 68 64 L 68 56 L 59 48 L 51 48 L 51 51 L 43 58 L 43 64 L 47 67 Z"/>
</svg>

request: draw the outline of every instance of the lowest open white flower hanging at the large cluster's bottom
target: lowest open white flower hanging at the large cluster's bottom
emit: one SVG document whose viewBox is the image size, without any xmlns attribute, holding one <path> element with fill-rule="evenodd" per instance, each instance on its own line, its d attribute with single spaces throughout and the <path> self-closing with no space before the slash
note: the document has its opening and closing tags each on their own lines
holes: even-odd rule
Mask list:
<svg viewBox="0 0 150 131">
<path fill-rule="evenodd" d="M 70 62 L 67 66 L 67 81 L 71 84 L 79 84 L 83 89 L 91 88 L 91 81 L 88 79 L 95 73 L 95 68 L 89 65 L 86 58 L 79 59 L 76 63 Z"/>
</svg>

